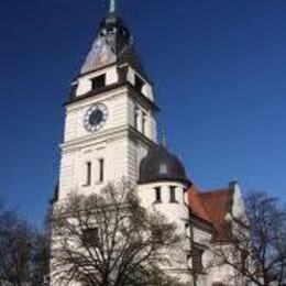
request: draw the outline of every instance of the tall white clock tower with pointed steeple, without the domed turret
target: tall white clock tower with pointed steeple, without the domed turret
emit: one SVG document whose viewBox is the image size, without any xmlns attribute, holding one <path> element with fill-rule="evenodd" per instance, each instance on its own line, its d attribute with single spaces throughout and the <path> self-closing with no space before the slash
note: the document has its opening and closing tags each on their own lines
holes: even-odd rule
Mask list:
<svg viewBox="0 0 286 286">
<path fill-rule="evenodd" d="M 130 31 L 111 1 L 65 105 L 58 199 L 122 177 L 138 183 L 140 162 L 156 145 L 157 110 Z"/>
</svg>

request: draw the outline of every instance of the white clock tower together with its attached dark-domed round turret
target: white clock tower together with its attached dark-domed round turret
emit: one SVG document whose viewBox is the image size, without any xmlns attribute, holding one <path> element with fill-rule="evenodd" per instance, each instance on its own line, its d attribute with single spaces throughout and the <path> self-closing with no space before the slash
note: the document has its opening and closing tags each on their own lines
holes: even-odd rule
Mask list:
<svg viewBox="0 0 286 286">
<path fill-rule="evenodd" d="M 134 50 L 128 26 L 110 0 L 96 40 L 65 105 L 59 186 L 53 202 L 70 193 L 91 195 L 125 178 L 142 206 L 163 213 L 185 238 L 162 270 L 184 282 L 189 272 L 190 243 L 187 191 L 191 183 L 184 165 L 157 144 L 152 84 Z M 174 257 L 179 257 L 175 260 Z"/>
</svg>

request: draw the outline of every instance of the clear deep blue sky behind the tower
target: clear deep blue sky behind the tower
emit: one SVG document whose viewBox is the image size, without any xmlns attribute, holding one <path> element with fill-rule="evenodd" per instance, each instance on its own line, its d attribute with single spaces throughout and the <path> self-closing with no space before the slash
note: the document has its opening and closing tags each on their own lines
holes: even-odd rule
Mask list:
<svg viewBox="0 0 286 286">
<path fill-rule="evenodd" d="M 119 0 L 168 146 L 202 189 L 237 179 L 286 201 L 286 1 Z M 69 84 L 106 0 L 2 0 L 0 197 L 42 221 Z"/>
</svg>

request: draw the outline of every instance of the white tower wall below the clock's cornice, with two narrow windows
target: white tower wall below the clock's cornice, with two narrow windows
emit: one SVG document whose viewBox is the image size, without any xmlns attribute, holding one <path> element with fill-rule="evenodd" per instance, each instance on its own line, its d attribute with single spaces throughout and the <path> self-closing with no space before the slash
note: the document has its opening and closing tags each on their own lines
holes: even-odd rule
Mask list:
<svg viewBox="0 0 286 286">
<path fill-rule="evenodd" d="M 107 183 L 125 177 L 135 184 L 139 178 L 141 158 L 147 153 L 147 146 L 125 136 L 124 131 L 118 138 L 94 141 L 90 145 L 76 145 L 64 148 L 61 162 L 59 199 L 72 191 L 89 195 L 99 191 Z M 105 180 L 99 183 L 98 160 L 105 161 Z M 86 163 L 91 162 L 91 185 L 87 183 Z"/>
</svg>

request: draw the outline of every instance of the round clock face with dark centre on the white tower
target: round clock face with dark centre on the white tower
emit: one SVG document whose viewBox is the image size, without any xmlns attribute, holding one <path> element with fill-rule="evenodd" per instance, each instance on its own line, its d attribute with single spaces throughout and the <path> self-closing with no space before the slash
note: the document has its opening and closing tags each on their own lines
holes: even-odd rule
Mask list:
<svg viewBox="0 0 286 286">
<path fill-rule="evenodd" d="M 96 132 L 103 127 L 108 118 L 108 109 L 105 105 L 95 105 L 88 109 L 85 116 L 85 128 L 89 132 Z"/>
</svg>

